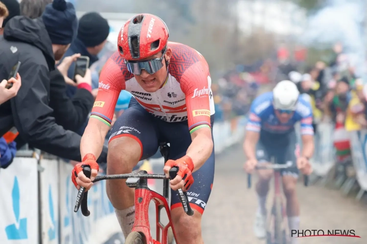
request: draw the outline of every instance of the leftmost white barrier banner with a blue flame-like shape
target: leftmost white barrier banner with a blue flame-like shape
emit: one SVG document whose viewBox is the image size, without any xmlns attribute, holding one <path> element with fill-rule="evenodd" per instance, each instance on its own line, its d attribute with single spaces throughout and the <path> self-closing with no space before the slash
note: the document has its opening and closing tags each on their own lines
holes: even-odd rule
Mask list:
<svg viewBox="0 0 367 244">
<path fill-rule="evenodd" d="M 38 241 L 38 171 L 34 158 L 15 158 L 0 169 L 0 243 Z"/>
</svg>

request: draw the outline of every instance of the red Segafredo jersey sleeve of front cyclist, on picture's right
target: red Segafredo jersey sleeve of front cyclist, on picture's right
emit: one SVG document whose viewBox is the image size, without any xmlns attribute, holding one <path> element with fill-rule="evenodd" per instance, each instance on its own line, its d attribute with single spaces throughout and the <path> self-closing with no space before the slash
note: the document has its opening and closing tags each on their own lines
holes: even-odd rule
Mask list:
<svg viewBox="0 0 367 244">
<path fill-rule="evenodd" d="M 209 102 L 211 94 L 208 74 L 207 64 L 199 61 L 187 68 L 181 77 L 180 83 L 186 98 L 190 134 L 203 127 L 211 128 Z"/>
</svg>

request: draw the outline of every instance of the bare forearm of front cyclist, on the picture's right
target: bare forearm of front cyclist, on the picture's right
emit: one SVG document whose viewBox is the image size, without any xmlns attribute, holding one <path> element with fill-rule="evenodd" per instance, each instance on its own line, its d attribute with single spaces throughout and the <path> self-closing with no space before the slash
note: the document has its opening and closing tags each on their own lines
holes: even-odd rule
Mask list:
<svg viewBox="0 0 367 244">
<path fill-rule="evenodd" d="M 202 128 L 201 130 L 203 129 L 206 128 Z M 213 151 L 213 141 L 211 139 L 211 132 L 209 131 L 209 129 L 208 133 L 200 133 L 191 136 L 192 142 L 187 148 L 186 155 L 192 159 L 192 162 L 194 163 L 193 172 L 195 172 L 201 166 L 203 166 L 206 160 L 210 157 Z"/>
</svg>

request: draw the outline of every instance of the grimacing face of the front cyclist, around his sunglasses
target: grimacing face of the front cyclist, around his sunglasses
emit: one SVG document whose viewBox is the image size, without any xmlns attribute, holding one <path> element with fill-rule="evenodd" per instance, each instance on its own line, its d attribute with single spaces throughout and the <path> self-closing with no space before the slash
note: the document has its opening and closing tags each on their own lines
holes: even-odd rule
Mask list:
<svg viewBox="0 0 367 244">
<path fill-rule="evenodd" d="M 165 60 L 169 61 L 169 59 L 172 56 L 172 49 L 170 47 L 167 47 L 167 51 L 165 54 Z M 151 56 L 145 60 L 142 61 L 148 61 L 152 59 L 158 59 L 162 57 L 162 53 L 158 53 L 154 56 Z M 147 92 L 156 92 L 158 89 L 160 89 L 161 85 L 166 81 L 167 78 L 167 68 L 165 64 L 165 60 L 162 59 L 163 66 L 160 70 L 158 70 L 154 74 L 149 74 L 144 69 L 141 70 L 140 75 L 134 75 L 135 79 L 137 79 L 139 85 Z"/>
</svg>

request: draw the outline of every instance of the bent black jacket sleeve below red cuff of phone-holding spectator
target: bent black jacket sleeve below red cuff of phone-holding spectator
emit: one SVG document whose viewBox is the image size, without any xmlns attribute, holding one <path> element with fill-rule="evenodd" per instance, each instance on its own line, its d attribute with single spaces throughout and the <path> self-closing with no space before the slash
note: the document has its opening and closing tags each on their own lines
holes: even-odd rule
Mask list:
<svg viewBox="0 0 367 244">
<path fill-rule="evenodd" d="M 73 98 L 66 94 L 67 84 L 58 69 L 50 72 L 50 102 L 56 123 L 66 130 L 76 132 L 86 121 L 91 112 L 94 98 L 83 88 L 77 89 Z"/>
</svg>

